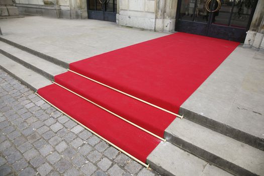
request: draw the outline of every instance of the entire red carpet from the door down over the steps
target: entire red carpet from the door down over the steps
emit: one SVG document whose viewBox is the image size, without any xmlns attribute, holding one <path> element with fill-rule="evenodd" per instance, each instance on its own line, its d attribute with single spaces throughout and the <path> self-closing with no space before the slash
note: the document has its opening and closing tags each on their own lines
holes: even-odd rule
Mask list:
<svg viewBox="0 0 264 176">
<path fill-rule="evenodd" d="M 180 106 L 239 43 L 175 33 L 70 64 L 70 69 L 178 113 Z M 163 137 L 175 116 L 66 72 L 55 82 Z M 58 85 L 38 93 L 81 124 L 145 162 L 160 142 Z"/>
</svg>

